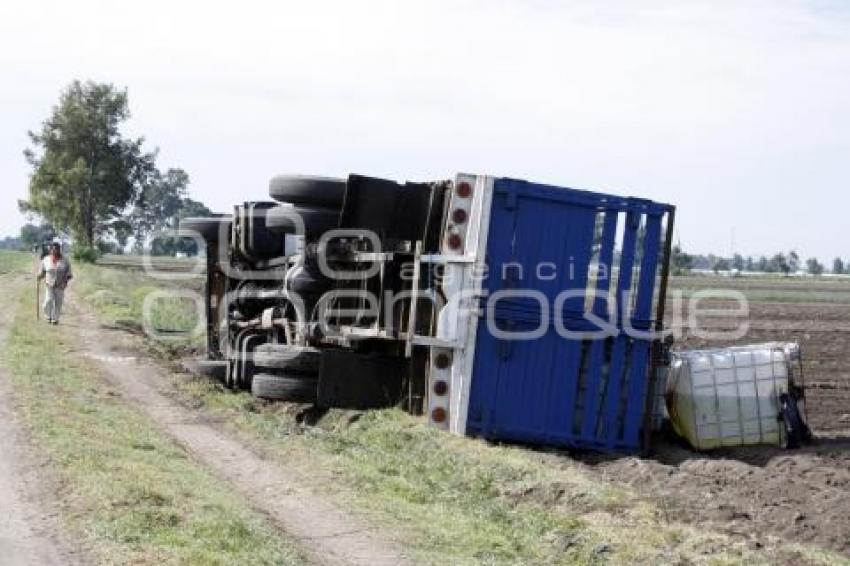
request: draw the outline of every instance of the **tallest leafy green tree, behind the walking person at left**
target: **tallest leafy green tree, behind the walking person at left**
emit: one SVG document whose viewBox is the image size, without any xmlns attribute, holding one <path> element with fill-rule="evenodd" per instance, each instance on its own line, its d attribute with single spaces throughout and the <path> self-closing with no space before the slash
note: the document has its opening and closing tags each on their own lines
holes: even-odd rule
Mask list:
<svg viewBox="0 0 850 566">
<path fill-rule="evenodd" d="M 93 248 L 154 170 L 155 153 L 142 151 L 143 139 L 120 132 L 129 117 L 126 90 L 71 83 L 41 131 L 29 132 L 34 149 L 24 155 L 33 171 L 22 210 Z"/>
</svg>

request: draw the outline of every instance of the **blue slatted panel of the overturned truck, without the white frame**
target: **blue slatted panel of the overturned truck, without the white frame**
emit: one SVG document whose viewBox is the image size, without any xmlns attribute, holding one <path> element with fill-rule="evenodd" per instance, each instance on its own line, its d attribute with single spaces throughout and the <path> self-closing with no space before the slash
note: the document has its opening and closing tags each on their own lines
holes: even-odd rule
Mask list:
<svg viewBox="0 0 850 566">
<path fill-rule="evenodd" d="M 468 433 L 596 450 L 639 448 L 649 394 L 646 331 L 654 323 L 662 225 L 670 209 L 495 181 Z"/>
</svg>

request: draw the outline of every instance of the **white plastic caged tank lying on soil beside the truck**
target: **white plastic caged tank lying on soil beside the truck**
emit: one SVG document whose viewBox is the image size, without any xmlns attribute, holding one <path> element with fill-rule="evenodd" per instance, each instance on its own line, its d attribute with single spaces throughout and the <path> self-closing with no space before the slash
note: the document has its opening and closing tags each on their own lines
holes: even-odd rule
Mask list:
<svg viewBox="0 0 850 566">
<path fill-rule="evenodd" d="M 667 411 L 694 448 L 785 445 L 780 395 L 789 390 L 799 346 L 770 342 L 672 353 Z"/>
</svg>

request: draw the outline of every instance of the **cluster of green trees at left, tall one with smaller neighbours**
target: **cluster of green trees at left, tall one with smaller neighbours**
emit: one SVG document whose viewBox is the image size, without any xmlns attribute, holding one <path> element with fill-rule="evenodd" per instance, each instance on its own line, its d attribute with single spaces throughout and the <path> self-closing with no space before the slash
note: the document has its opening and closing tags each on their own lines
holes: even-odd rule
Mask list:
<svg viewBox="0 0 850 566">
<path fill-rule="evenodd" d="M 129 118 L 127 91 L 111 84 L 74 81 L 62 92 L 41 130 L 29 132 L 24 156 L 33 171 L 19 207 L 42 222 L 24 230 L 68 234 L 89 250 L 123 250 L 131 238 L 142 247 L 153 232 L 176 228 L 179 218 L 211 214 L 189 198 L 185 171 L 160 171 L 144 138 L 122 134 Z M 24 230 L 21 242 L 29 239 Z"/>
</svg>

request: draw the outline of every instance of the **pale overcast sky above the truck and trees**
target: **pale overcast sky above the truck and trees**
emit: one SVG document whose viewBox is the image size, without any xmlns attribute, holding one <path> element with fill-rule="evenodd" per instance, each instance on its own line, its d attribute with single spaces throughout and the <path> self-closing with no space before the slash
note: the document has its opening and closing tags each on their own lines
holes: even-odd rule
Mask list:
<svg viewBox="0 0 850 566">
<path fill-rule="evenodd" d="M 26 131 L 92 79 L 217 210 L 276 173 L 464 171 L 676 204 L 690 251 L 850 257 L 837 0 L 4 2 L 0 77 L 0 234 Z"/>
</svg>

